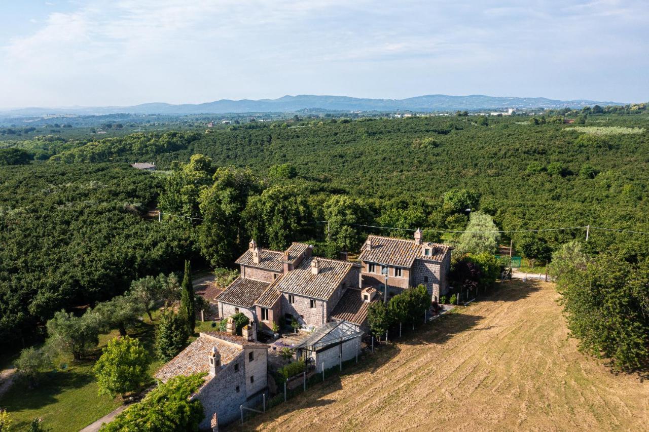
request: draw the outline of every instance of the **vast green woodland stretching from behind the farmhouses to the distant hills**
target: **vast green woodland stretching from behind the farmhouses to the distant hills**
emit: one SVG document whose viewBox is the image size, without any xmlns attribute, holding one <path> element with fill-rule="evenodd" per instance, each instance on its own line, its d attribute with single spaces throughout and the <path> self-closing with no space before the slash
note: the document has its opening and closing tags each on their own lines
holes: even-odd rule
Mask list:
<svg viewBox="0 0 649 432">
<path fill-rule="evenodd" d="M 501 230 L 599 226 L 649 232 L 649 116 L 556 113 L 300 119 L 112 138 L 4 141 L 30 164 L 0 167 L 0 331 L 31 335 L 54 311 L 110 298 L 146 274 L 232 265 L 249 237 L 319 254 L 354 251 L 369 228 L 457 241 L 467 208 Z M 172 126 L 170 126 L 171 128 Z M 191 157 L 192 155 L 197 155 Z M 190 162 L 191 158 L 191 162 Z M 13 158 L 12 160 L 15 160 Z M 25 161 L 23 161 L 25 162 Z M 141 173 L 127 163 L 154 162 Z M 204 219 L 147 219 L 167 213 Z M 329 221 L 330 232 L 326 232 Z M 548 259 L 585 229 L 510 233 Z M 591 229 L 585 252 L 635 263 L 645 235 Z"/>
</svg>

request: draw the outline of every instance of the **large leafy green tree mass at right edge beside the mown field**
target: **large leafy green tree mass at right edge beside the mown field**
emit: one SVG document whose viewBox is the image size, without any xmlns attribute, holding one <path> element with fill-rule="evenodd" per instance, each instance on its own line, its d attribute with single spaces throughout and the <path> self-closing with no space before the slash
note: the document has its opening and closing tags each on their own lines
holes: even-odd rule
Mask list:
<svg viewBox="0 0 649 432">
<path fill-rule="evenodd" d="M 649 261 L 635 265 L 613 254 L 583 261 L 572 252 L 559 267 L 557 291 L 580 349 L 620 370 L 648 368 Z"/>
</svg>

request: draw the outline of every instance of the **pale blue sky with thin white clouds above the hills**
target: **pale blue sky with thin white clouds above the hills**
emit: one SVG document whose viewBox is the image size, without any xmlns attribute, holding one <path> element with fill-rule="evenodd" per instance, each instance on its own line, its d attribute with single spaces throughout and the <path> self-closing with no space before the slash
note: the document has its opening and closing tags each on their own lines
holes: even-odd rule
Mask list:
<svg viewBox="0 0 649 432">
<path fill-rule="evenodd" d="M 0 0 L 0 108 L 283 95 L 649 101 L 646 0 Z"/>
</svg>

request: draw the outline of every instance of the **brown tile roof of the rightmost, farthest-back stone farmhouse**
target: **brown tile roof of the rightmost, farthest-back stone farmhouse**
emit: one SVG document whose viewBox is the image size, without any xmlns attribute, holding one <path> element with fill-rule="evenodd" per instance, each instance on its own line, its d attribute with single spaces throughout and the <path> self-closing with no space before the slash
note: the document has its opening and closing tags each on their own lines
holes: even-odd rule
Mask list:
<svg viewBox="0 0 649 432">
<path fill-rule="evenodd" d="M 368 250 L 367 242 L 371 242 L 371 249 Z M 421 252 L 422 246 L 428 245 L 432 248 L 431 256 L 424 256 Z M 358 259 L 371 263 L 395 265 L 397 267 L 412 267 L 417 259 L 426 261 L 442 261 L 451 247 L 439 243 L 422 243 L 418 245 L 414 240 L 397 239 L 394 237 L 382 237 L 370 235 L 363 244 L 363 252 Z"/>
</svg>

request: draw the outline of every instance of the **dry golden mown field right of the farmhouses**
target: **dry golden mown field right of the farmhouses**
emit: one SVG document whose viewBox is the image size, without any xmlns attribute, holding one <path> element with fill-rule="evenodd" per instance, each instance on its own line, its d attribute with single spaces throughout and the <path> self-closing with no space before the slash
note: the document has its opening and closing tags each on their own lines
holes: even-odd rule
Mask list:
<svg viewBox="0 0 649 432">
<path fill-rule="evenodd" d="M 241 429 L 649 430 L 649 382 L 576 350 L 554 285 L 508 282 Z"/>
</svg>

